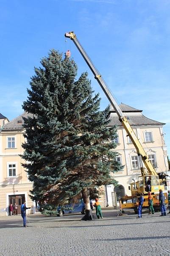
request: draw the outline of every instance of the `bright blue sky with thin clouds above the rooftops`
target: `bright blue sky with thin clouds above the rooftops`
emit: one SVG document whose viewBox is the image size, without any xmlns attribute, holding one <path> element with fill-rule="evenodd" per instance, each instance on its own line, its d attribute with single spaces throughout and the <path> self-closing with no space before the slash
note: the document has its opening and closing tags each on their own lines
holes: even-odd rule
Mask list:
<svg viewBox="0 0 170 256">
<path fill-rule="evenodd" d="M 108 100 L 74 44 L 74 31 L 118 103 L 166 123 L 170 155 L 169 0 L 1 0 L 0 113 L 20 115 L 33 67 L 49 49 L 71 50 L 78 75 L 88 71 L 101 109 Z"/>
</svg>

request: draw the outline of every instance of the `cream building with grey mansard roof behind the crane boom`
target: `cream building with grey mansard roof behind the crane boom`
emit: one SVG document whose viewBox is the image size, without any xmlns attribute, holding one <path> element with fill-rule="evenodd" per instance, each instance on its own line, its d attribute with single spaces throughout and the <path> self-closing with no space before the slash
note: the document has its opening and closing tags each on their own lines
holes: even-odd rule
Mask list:
<svg viewBox="0 0 170 256">
<path fill-rule="evenodd" d="M 131 106 L 120 104 L 120 108 L 128 118 L 156 172 L 167 172 L 167 146 L 164 141 L 164 123 L 145 117 L 142 114 L 142 110 L 134 109 Z M 117 125 L 118 137 L 114 140 L 117 143 L 115 151 L 119 154 L 117 161 L 120 161 L 124 166 L 123 171 L 114 173 L 114 178 L 119 182 L 120 186 L 114 187 L 109 185 L 105 189 L 105 205 L 111 207 L 113 206 L 113 192 L 117 192 L 117 197 L 119 195 L 124 196 L 125 194 L 131 196 L 130 183 L 133 182 L 132 179 L 137 181 L 141 173 L 136 149 L 127 136 L 114 109 L 111 109 L 109 119 L 111 120 L 109 126 Z"/>
</svg>

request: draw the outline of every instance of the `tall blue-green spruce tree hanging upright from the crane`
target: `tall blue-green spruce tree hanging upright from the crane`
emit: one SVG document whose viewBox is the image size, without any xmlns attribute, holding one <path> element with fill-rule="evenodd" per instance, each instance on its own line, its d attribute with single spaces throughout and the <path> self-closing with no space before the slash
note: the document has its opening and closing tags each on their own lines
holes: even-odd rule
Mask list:
<svg viewBox="0 0 170 256">
<path fill-rule="evenodd" d="M 116 127 L 107 127 L 109 107 L 100 111 L 87 73 L 76 79 L 74 60 L 51 50 L 35 68 L 23 109 L 26 142 L 22 145 L 33 181 L 31 198 L 52 205 L 82 194 L 89 209 L 89 189 L 117 184 L 111 173 L 121 170 L 115 161 Z"/>
</svg>

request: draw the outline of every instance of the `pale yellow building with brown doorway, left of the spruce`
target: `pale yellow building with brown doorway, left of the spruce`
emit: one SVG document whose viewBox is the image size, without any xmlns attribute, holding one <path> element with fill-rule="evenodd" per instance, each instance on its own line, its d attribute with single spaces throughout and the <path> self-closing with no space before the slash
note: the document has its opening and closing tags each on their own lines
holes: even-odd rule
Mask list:
<svg viewBox="0 0 170 256">
<path fill-rule="evenodd" d="M 22 201 L 26 201 L 26 205 L 31 207 L 28 213 L 35 212 L 35 203 L 28 196 L 32 183 L 21 165 L 23 160 L 20 157 L 25 140 L 22 127 L 22 116 L 25 115 L 20 115 L 11 122 L 7 118 L 0 120 L 0 216 L 8 215 L 9 204 L 15 202 L 20 213 Z"/>
</svg>

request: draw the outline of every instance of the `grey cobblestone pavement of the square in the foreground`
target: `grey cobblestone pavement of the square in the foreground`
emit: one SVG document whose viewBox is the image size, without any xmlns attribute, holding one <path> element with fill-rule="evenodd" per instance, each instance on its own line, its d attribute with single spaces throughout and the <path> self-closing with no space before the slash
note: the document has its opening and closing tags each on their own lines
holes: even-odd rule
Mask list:
<svg viewBox="0 0 170 256">
<path fill-rule="evenodd" d="M 2 217 L 0 255 L 170 256 L 169 215 L 115 215 L 103 211 L 104 219 L 95 221 L 79 221 L 80 215 L 30 215 L 27 228 L 22 227 L 21 216 Z"/>
</svg>

